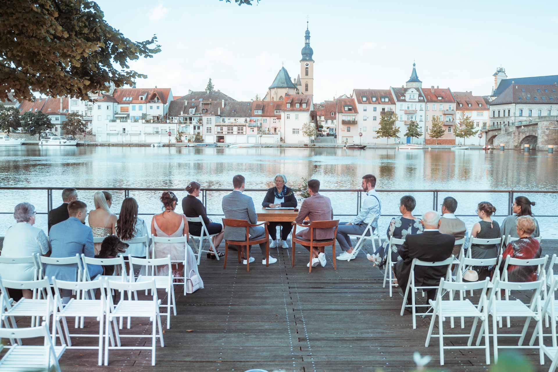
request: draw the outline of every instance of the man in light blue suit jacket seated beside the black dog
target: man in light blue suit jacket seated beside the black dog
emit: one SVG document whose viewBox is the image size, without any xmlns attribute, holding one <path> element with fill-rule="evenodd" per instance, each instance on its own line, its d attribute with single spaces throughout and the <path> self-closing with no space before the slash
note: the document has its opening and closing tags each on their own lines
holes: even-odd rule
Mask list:
<svg viewBox="0 0 558 372">
<path fill-rule="evenodd" d="M 102 193 L 101 193 L 102 195 Z M 93 233 L 89 226 L 84 225 L 87 215 L 87 205 L 83 201 L 73 200 L 68 204 L 70 218 L 52 226 L 49 233 L 51 248 L 50 257 L 75 257 L 76 253 L 85 257 L 95 257 L 93 248 Z M 89 276 L 103 273 L 100 265 L 88 265 Z M 61 281 L 75 282 L 78 276 L 77 264 L 46 265 L 45 277 L 55 277 Z M 63 292 L 62 302 L 70 301 L 71 291 Z"/>
</svg>

